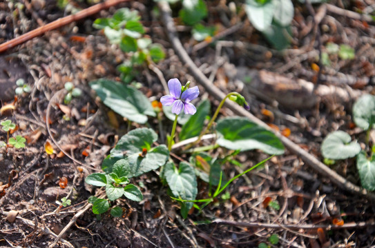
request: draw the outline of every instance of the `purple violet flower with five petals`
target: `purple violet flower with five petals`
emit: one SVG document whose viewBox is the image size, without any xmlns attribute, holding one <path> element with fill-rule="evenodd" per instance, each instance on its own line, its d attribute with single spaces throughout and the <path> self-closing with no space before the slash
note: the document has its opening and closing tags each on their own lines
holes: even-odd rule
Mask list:
<svg viewBox="0 0 375 248">
<path fill-rule="evenodd" d="M 182 110 L 184 110 L 185 114 L 195 114 L 197 112 L 197 109 L 190 101 L 198 97 L 198 86 L 190 89 L 186 89 L 185 87 L 186 85 L 182 89 L 182 85 L 178 79 L 169 79 L 168 81 L 170 95 L 162 96 L 160 102 L 165 106 L 172 105 L 173 114 L 180 114 Z"/>
</svg>

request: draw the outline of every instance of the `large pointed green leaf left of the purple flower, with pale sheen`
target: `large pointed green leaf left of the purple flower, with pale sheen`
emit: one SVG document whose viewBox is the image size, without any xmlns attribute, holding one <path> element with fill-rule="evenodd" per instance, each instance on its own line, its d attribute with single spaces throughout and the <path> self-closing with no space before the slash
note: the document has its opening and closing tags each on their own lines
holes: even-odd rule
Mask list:
<svg viewBox="0 0 375 248">
<path fill-rule="evenodd" d="M 143 124 L 147 121 L 147 115 L 155 116 L 150 101 L 135 87 L 108 79 L 92 81 L 90 87 L 97 92 L 105 105 L 129 121 Z"/>
</svg>

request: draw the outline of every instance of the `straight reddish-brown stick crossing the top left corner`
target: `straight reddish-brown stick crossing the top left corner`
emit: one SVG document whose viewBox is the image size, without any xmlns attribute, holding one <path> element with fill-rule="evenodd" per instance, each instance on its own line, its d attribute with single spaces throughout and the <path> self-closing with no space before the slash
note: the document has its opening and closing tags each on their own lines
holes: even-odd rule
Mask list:
<svg viewBox="0 0 375 248">
<path fill-rule="evenodd" d="M 77 12 L 77 14 L 70 14 L 68 15 L 68 17 L 63 17 L 57 19 L 56 21 L 52 21 L 51 23 L 41 26 L 40 28 L 36 28 L 35 30 L 27 32 L 26 34 L 22 34 L 21 36 L 15 39 L 11 39 L 10 41 L 0 44 L 0 53 L 5 52 L 10 48 L 14 48 L 16 45 L 22 44 L 26 41 L 29 41 L 30 39 L 34 39 L 35 37 L 38 37 L 39 35 L 44 34 L 45 32 L 54 30 L 56 28 L 61 28 L 64 25 L 72 23 L 73 21 L 79 21 L 80 19 L 84 19 L 90 16 L 91 14 L 99 12 L 100 10 L 104 10 L 106 8 L 115 6 L 118 3 L 122 3 L 125 1 L 130 0 L 107 0 L 104 3 L 98 3 L 95 6 L 91 6 L 89 8 L 86 8 L 85 10 L 81 10 Z"/>
</svg>

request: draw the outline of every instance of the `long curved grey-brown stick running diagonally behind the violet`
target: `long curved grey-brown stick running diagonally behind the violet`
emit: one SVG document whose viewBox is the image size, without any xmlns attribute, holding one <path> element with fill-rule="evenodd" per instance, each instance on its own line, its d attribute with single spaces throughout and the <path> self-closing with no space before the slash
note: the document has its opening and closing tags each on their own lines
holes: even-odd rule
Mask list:
<svg viewBox="0 0 375 248">
<path fill-rule="evenodd" d="M 171 17 L 171 8 L 169 8 L 169 4 L 165 1 L 160 1 L 159 8 L 162 12 L 162 21 L 166 28 L 166 34 L 168 35 L 173 50 L 175 50 L 177 56 L 180 58 L 182 63 L 186 65 L 186 68 L 188 68 L 188 70 L 194 76 L 195 80 L 198 81 L 204 87 L 204 89 L 207 92 L 209 92 L 209 94 L 211 94 L 215 99 L 218 99 L 219 101 L 224 99 L 226 94 L 224 94 L 224 92 L 222 92 L 218 87 L 213 85 L 213 83 L 211 83 L 209 79 L 207 79 L 203 72 L 200 71 L 199 68 L 195 65 L 195 63 L 191 60 L 189 54 L 186 53 L 186 50 L 182 46 L 180 39 L 178 39 L 177 37 L 177 31 L 173 23 L 173 19 Z M 251 114 L 247 110 L 244 110 L 243 107 L 240 107 L 233 101 L 227 101 L 226 106 L 229 107 L 229 109 L 232 110 L 235 114 L 238 114 L 240 116 L 246 116 L 254 123 L 262 127 L 265 127 L 267 130 L 271 132 L 274 132 L 266 123 L 260 121 L 260 119 L 256 118 L 256 116 L 253 116 L 253 114 Z M 358 187 L 357 185 L 354 185 L 353 183 L 350 183 L 348 180 L 334 172 L 332 169 L 329 169 L 327 165 L 320 162 L 318 158 L 309 154 L 309 152 L 305 151 L 298 144 L 289 140 L 289 138 L 282 136 L 282 134 L 280 134 L 279 132 L 274 132 L 274 134 L 278 136 L 278 138 L 280 138 L 282 143 L 285 145 L 285 147 L 287 147 L 287 149 L 289 149 L 290 152 L 302 158 L 302 160 L 305 161 L 305 163 L 309 165 L 312 169 L 315 169 L 316 172 L 320 173 L 323 176 L 327 176 L 327 178 L 329 178 L 332 183 L 334 183 L 341 189 L 345 189 L 348 192 L 352 192 L 352 194 L 365 196 L 367 199 L 375 201 L 374 193 L 367 192 L 366 189 L 363 189 L 361 187 Z"/>
</svg>

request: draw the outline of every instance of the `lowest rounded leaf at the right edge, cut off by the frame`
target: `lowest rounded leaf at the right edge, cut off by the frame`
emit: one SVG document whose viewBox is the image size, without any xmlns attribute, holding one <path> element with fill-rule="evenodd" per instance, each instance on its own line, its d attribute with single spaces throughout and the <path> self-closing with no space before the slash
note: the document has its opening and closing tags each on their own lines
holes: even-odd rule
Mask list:
<svg viewBox="0 0 375 248">
<path fill-rule="evenodd" d="M 357 156 L 357 169 L 362 187 L 375 190 L 375 156 L 368 160 L 365 152 L 360 152 Z"/>
</svg>

